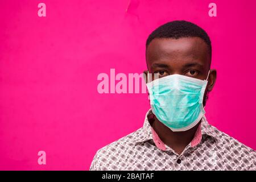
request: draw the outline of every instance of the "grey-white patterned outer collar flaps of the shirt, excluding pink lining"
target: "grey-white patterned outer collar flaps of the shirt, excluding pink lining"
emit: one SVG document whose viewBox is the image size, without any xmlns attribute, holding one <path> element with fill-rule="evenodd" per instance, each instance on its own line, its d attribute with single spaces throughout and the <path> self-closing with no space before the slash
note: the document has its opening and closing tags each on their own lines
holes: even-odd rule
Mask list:
<svg viewBox="0 0 256 182">
<path fill-rule="evenodd" d="M 142 130 L 142 135 L 138 136 L 137 139 L 135 139 L 135 143 L 141 143 L 146 142 L 147 140 L 153 139 L 152 131 L 151 131 L 151 125 L 150 121 L 148 121 L 148 116 L 152 113 L 152 110 L 149 109 L 146 113 Z M 209 136 L 216 140 L 218 142 L 218 137 L 212 126 L 208 123 L 205 116 L 201 119 L 201 133 L 202 135 Z"/>
</svg>

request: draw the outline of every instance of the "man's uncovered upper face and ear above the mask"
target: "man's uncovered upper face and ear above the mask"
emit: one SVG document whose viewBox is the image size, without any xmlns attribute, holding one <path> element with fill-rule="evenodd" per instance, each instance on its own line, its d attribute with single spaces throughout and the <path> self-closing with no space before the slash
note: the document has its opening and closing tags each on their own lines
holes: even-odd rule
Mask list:
<svg viewBox="0 0 256 182">
<path fill-rule="evenodd" d="M 205 80 L 210 69 L 208 46 L 196 37 L 153 39 L 147 47 L 146 60 L 148 72 L 157 73 L 159 78 L 179 74 Z M 212 90 L 215 80 L 216 71 L 211 70 L 207 91 Z"/>
</svg>

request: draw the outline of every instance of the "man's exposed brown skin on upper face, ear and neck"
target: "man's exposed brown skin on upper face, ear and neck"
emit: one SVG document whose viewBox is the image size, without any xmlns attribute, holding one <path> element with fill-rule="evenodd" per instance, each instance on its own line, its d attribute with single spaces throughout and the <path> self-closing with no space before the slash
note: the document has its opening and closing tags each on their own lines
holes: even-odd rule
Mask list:
<svg viewBox="0 0 256 182">
<path fill-rule="evenodd" d="M 149 73 L 158 73 L 159 78 L 179 74 L 205 80 L 207 78 L 211 57 L 207 44 L 200 38 L 156 38 L 146 49 L 147 69 Z M 147 74 L 147 71 L 144 73 Z M 152 75 L 154 80 L 154 74 Z M 208 85 L 204 94 L 204 106 L 207 92 L 213 89 L 216 70 L 211 69 Z M 174 132 L 154 116 L 154 130 L 159 138 L 177 154 L 193 139 L 200 122 L 190 130 Z"/>
</svg>

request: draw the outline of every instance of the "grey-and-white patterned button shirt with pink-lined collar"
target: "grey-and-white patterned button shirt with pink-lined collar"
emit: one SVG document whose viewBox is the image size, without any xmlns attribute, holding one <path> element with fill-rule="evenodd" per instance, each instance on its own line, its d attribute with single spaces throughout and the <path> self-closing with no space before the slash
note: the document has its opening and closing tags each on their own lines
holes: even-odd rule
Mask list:
<svg viewBox="0 0 256 182">
<path fill-rule="evenodd" d="M 151 109 L 141 129 L 97 151 L 90 170 L 256 170 L 256 151 L 209 125 L 177 154 L 152 129 Z"/>
</svg>

